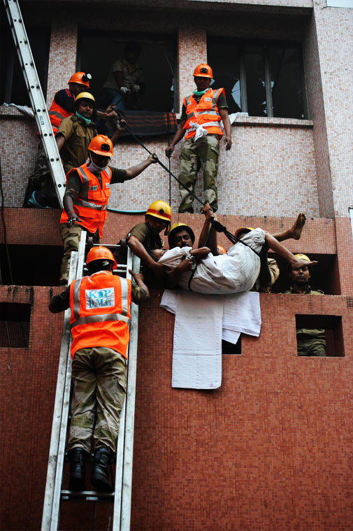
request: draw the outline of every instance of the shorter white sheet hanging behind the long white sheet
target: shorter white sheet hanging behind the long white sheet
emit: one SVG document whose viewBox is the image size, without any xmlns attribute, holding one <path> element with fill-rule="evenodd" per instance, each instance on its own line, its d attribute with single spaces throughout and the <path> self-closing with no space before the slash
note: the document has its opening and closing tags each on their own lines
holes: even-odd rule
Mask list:
<svg viewBox="0 0 353 531">
<path fill-rule="evenodd" d="M 161 308 L 175 313 L 178 290 L 164 290 Z M 181 293 L 185 293 L 181 291 Z M 196 295 L 196 294 L 194 294 Z M 259 293 L 245 291 L 225 295 L 222 318 L 222 339 L 236 344 L 240 333 L 259 337 L 261 330 L 261 309 Z M 195 311 L 197 306 L 195 308 Z M 205 309 L 203 308 L 203 311 Z"/>
</svg>

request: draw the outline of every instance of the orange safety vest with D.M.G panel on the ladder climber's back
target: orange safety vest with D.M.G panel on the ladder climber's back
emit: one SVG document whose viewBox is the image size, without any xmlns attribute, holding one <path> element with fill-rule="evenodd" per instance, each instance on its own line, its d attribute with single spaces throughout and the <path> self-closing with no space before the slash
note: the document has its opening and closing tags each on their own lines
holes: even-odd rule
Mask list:
<svg viewBox="0 0 353 531">
<path fill-rule="evenodd" d="M 71 358 L 80 348 L 105 346 L 127 357 L 131 281 L 99 271 L 70 285 Z"/>
</svg>

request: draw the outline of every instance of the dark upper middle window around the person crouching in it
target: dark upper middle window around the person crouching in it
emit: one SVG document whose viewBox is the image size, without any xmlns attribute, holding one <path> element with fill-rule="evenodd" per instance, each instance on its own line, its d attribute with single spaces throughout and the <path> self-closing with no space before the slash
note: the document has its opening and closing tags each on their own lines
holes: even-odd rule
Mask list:
<svg viewBox="0 0 353 531">
<path fill-rule="evenodd" d="M 139 94 L 141 110 L 172 111 L 175 108 L 176 38 L 156 34 L 122 34 L 82 32 L 78 41 L 77 68 L 92 73 L 92 94 L 99 102 L 101 88 L 110 66 L 124 57 L 124 45 L 136 41 L 141 45 L 138 64 L 145 77 L 145 93 Z M 96 52 L 103 50 L 103 53 Z"/>
</svg>

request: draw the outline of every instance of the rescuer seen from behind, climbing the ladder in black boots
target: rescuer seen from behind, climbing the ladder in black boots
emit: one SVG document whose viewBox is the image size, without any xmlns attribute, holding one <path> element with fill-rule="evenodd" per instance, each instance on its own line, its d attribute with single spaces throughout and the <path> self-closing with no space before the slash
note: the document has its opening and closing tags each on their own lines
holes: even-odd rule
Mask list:
<svg viewBox="0 0 353 531">
<path fill-rule="evenodd" d="M 136 284 L 113 276 L 116 262 L 103 246 L 89 250 L 90 276 L 73 281 L 52 297 L 52 313 L 71 309 L 73 395 L 68 441 L 70 490 L 85 490 L 85 460 L 91 451 L 94 465 L 91 483 L 100 491 L 112 491 L 108 476 L 115 453 L 119 417 L 127 386 L 127 347 L 131 301 L 149 297 L 142 274 L 130 271 Z"/>
</svg>

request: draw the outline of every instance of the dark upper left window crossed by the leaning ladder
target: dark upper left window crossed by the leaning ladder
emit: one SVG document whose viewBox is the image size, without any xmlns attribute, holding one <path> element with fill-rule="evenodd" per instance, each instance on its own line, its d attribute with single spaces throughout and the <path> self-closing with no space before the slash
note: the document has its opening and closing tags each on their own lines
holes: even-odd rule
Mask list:
<svg viewBox="0 0 353 531">
<path fill-rule="evenodd" d="M 28 105 L 29 96 L 24 83 L 22 68 L 17 57 L 15 43 L 10 32 L 8 19 L 1 10 L 1 86 L 0 104 L 3 102 L 17 105 Z M 44 97 L 47 91 L 48 58 L 50 45 L 50 30 L 44 28 L 26 27 L 29 44 L 36 64 L 38 78 L 41 82 Z"/>
</svg>

